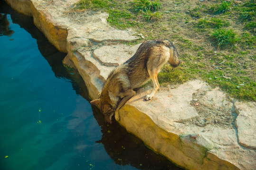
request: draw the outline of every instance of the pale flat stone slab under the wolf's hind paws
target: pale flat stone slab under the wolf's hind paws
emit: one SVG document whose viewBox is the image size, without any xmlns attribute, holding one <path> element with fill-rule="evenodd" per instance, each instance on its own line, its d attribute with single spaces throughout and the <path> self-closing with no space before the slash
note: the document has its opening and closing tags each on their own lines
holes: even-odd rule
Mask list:
<svg viewBox="0 0 256 170">
<path fill-rule="evenodd" d="M 152 90 L 140 89 L 127 104 L 147 113 L 157 125 L 161 124 L 160 121 L 167 125 L 170 122 L 188 121 L 198 117 L 197 110 L 190 105 L 190 101 L 192 101 L 192 94 L 200 88 L 200 85 L 206 84 L 196 80 L 184 83 L 175 89 L 161 88 L 150 101 L 145 101 L 144 98 Z"/>
</svg>

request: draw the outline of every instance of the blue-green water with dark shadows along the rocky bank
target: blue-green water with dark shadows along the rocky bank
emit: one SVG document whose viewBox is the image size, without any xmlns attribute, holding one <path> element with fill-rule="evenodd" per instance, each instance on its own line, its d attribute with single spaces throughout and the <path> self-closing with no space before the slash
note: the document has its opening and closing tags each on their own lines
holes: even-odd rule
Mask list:
<svg viewBox="0 0 256 170">
<path fill-rule="evenodd" d="M 105 124 L 65 56 L 0 1 L 0 170 L 180 170 Z"/>
</svg>

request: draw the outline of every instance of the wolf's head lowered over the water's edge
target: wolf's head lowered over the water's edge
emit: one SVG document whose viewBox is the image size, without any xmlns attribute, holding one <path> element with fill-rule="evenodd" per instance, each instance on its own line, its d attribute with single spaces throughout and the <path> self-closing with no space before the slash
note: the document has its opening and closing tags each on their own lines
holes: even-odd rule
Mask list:
<svg viewBox="0 0 256 170">
<path fill-rule="evenodd" d="M 90 102 L 96 105 L 105 116 L 105 122 L 112 123 L 112 117 L 114 116 L 114 110 L 108 103 L 102 101 L 102 99 L 95 99 Z"/>
</svg>

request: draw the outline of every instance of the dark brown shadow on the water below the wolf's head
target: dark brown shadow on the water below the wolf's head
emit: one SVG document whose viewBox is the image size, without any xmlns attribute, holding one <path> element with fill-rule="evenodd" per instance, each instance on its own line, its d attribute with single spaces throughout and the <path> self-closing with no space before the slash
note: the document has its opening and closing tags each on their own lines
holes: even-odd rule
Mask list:
<svg viewBox="0 0 256 170">
<path fill-rule="evenodd" d="M 100 110 L 95 106 L 92 107 L 103 134 L 102 139 L 97 143 L 104 145 L 106 152 L 116 164 L 129 164 L 139 170 L 182 170 L 165 157 L 148 149 L 142 140 L 128 133 L 116 122 L 108 126 Z"/>
</svg>

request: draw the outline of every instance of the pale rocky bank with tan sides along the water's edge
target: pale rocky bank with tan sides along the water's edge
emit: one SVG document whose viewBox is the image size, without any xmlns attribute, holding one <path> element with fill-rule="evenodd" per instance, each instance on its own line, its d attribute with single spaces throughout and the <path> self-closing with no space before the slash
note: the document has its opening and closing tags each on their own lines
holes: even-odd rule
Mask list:
<svg viewBox="0 0 256 170">
<path fill-rule="evenodd" d="M 34 17 L 34 23 L 75 67 L 92 99 L 98 97 L 109 72 L 129 59 L 138 37 L 116 30 L 104 12 L 71 10 L 78 0 L 5 0 Z M 256 104 L 237 102 L 194 80 L 177 88 L 161 87 L 144 101 L 151 86 L 139 89 L 120 110 L 119 123 L 146 145 L 191 170 L 254 170 L 256 167 Z"/>
</svg>

